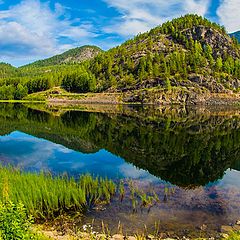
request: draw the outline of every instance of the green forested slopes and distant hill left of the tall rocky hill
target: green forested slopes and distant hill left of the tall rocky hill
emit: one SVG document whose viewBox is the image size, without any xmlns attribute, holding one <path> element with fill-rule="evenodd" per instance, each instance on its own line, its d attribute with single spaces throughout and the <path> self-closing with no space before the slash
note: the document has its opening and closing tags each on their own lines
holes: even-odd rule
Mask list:
<svg viewBox="0 0 240 240">
<path fill-rule="evenodd" d="M 81 66 L 75 64 L 75 61 L 79 62 L 89 58 L 86 51 L 90 51 L 90 55 L 95 56 L 102 50 L 95 46 L 83 46 L 20 68 L 0 63 L 0 99 L 20 100 L 26 94 L 61 86 L 63 78 L 66 79 L 74 74 L 77 78 L 74 81 L 76 86 L 71 89 L 72 91 L 81 92 L 82 89 L 83 92 L 95 91 L 95 76 L 86 69 L 86 63 Z M 67 61 L 66 64 L 65 60 Z M 82 69 L 81 76 L 77 75 L 79 69 Z"/>
</svg>

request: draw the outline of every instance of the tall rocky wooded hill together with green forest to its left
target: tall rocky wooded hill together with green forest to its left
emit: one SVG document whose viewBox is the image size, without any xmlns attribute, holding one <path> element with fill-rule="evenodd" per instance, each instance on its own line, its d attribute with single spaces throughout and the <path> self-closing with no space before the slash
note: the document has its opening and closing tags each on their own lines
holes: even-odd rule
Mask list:
<svg viewBox="0 0 240 240">
<path fill-rule="evenodd" d="M 197 15 L 166 22 L 107 52 L 95 50 L 96 57 L 85 54 L 81 63 L 71 61 L 78 59 L 75 49 L 8 74 L 0 71 L 0 99 L 62 86 L 75 93 L 130 93 L 125 102 L 165 101 L 166 92 L 187 102 L 192 95 L 229 95 L 240 89 L 237 40 Z"/>
</svg>

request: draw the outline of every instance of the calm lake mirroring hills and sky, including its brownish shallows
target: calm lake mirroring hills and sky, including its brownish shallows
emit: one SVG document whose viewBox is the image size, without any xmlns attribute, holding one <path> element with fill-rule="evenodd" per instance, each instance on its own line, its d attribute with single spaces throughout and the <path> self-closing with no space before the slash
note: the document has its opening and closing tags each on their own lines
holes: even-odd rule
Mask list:
<svg viewBox="0 0 240 240">
<path fill-rule="evenodd" d="M 116 231 L 194 235 L 240 219 L 240 109 L 0 104 L 0 161 L 31 172 L 102 176 L 156 193 L 133 211 L 130 193 L 87 213 Z M 199 236 L 199 235 L 198 235 Z"/>
</svg>

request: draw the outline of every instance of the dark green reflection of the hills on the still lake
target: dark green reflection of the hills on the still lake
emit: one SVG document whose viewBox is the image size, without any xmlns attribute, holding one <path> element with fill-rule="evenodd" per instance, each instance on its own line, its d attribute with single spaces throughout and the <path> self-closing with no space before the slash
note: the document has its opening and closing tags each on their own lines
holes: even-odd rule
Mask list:
<svg viewBox="0 0 240 240">
<path fill-rule="evenodd" d="M 240 160 L 240 122 L 234 116 L 69 111 L 54 117 L 20 105 L 0 107 L 0 134 L 19 130 L 81 152 L 104 148 L 179 186 L 215 181 Z"/>
</svg>

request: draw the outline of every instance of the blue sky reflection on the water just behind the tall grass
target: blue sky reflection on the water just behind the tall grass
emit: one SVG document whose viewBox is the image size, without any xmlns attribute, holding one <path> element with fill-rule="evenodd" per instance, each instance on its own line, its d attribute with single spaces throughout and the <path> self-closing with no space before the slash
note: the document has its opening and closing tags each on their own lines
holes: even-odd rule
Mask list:
<svg viewBox="0 0 240 240">
<path fill-rule="evenodd" d="M 76 178 L 80 174 L 90 173 L 112 179 L 131 177 L 156 180 L 146 171 L 137 169 L 104 149 L 88 154 L 76 152 L 19 131 L 0 137 L 0 159 L 4 165 L 26 171 L 45 171 L 55 175 L 67 173 Z"/>
</svg>

